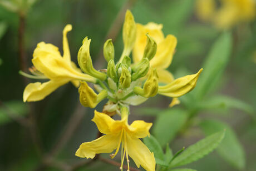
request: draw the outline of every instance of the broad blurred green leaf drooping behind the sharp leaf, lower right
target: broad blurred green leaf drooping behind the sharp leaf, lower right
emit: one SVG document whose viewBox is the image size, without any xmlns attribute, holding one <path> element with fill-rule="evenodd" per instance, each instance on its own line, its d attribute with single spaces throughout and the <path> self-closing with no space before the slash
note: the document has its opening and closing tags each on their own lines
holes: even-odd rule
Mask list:
<svg viewBox="0 0 256 171">
<path fill-rule="evenodd" d="M 206 135 L 226 129 L 225 138 L 216 150 L 221 157 L 235 168 L 243 169 L 245 167 L 245 154 L 242 144 L 240 144 L 237 135 L 229 125 L 217 120 L 204 120 L 200 126 Z"/>
</svg>

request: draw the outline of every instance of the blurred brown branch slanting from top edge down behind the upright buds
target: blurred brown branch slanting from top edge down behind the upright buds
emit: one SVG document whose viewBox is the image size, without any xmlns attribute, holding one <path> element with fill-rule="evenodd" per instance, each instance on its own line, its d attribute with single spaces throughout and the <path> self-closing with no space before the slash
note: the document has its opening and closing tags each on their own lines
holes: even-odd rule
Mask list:
<svg viewBox="0 0 256 171">
<path fill-rule="evenodd" d="M 105 41 L 109 38 L 112 39 L 112 42 L 115 42 L 117 35 L 119 34 L 121 28 L 122 28 L 122 23 L 124 22 L 125 18 L 125 13 L 127 9 L 130 9 L 132 6 L 134 6 L 134 3 L 136 0 L 127 0 L 125 4 L 122 6 L 120 9 L 119 13 L 117 14 L 114 22 L 112 23 L 109 32 L 107 32 L 106 37 L 104 39 L 104 42 L 102 43 L 102 46 L 104 45 Z M 104 57 L 103 57 L 103 49 L 100 50 L 99 55 L 96 58 L 95 62 L 95 68 L 102 68 L 104 67 Z"/>
</svg>

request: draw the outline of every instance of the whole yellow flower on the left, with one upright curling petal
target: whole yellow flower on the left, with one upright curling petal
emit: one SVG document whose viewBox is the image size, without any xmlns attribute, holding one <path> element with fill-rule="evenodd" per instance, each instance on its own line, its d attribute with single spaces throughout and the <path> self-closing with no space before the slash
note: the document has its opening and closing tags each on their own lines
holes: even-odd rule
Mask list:
<svg viewBox="0 0 256 171">
<path fill-rule="evenodd" d="M 50 43 L 40 42 L 33 53 L 32 63 L 35 68 L 43 73 L 50 81 L 30 83 L 24 89 L 23 101 L 32 102 L 44 99 L 58 87 L 72 82 L 76 87 L 80 80 L 96 82 L 96 78 L 81 73 L 76 64 L 71 61 L 68 47 L 67 32 L 72 26 L 68 24 L 63 29 L 63 57 L 58 48 Z"/>
</svg>

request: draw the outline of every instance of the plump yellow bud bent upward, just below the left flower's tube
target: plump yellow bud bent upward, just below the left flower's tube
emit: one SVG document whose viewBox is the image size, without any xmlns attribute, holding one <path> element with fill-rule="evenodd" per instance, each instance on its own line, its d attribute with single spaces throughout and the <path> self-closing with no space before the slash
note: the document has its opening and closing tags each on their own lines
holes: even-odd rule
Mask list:
<svg viewBox="0 0 256 171">
<path fill-rule="evenodd" d="M 107 90 L 102 90 L 99 94 L 96 94 L 86 82 L 80 83 L 78 93 L 80 94 L 80 103 L 84 107 L 90 108 L 95 108 L 101 100 L 107 97 Z"/>
</svg>

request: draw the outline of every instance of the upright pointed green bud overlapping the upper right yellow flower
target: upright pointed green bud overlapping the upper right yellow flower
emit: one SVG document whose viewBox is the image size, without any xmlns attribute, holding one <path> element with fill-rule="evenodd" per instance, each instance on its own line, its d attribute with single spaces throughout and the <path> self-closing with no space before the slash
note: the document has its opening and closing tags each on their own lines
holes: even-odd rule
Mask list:
<svg viewBox="0 0 256 171">
<path fill-rule="evenodd" d="M 150 61 L 156 54 L 157 45 L 154 39 L 152 39 L 152 37 L 149 36 L 149 34 L 146 34 L 146 36 L 147 36 L 147 44 L 144 49 L 143 58 L 147 58 Z"/>
</svg>

